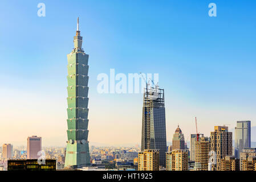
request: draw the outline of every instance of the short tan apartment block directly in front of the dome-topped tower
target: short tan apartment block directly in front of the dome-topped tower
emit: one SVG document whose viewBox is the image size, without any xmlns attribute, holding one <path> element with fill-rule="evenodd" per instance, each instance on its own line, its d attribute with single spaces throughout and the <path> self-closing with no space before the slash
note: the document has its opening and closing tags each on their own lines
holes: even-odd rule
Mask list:
<svg viewBox="0 0 256 182">
<path fill-rule="evenodd" d="M 188 151 L 166 152 L 166 171 L 188 171 Z"/>
</svg>

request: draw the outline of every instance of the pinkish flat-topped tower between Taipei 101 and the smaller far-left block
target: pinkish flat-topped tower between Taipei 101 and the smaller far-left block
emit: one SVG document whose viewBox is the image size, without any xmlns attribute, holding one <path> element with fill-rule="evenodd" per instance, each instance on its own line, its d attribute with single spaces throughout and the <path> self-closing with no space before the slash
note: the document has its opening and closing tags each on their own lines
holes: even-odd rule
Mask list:
<svg viewBox="0 0 256 182">
<path fill-rule="evenodd" d="M 37 136 L 27 137 L 27 159 L 38 159 L 42 151 L 42 138 Z"/>
</svg>

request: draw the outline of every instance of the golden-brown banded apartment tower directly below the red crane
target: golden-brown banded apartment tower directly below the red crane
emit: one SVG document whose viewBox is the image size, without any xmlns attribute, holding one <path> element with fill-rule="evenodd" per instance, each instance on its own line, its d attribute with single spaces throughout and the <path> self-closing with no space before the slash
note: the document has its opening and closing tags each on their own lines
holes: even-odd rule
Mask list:
<svg viewBox="0 0 256 182">
<path fill-rule="evenodd" d="M 198 138 L 198 141 L 196 141 L 195 153 L 195 170 L 208 171 L 208 163 L 210 158 L 210 138 Z"/>
</svg>

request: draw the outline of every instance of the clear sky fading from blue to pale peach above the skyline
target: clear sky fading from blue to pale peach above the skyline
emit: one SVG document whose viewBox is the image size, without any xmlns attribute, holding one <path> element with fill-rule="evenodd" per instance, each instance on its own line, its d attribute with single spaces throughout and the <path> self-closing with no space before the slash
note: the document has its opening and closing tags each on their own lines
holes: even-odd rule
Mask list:
<svg viewBox="0 0 256 182">
<path fill-rule="evenodd" d="M 40 2 L 45 17 L 37 16 Z M 208 16 L 211 2 L 217 17 Z M 110 68 L 159 73 L 168 141 L 178 123 L 185 138 L 194 133 L 194 116 L 205 135 L 241 119 L 256 125 L 255 1 L 1 1 L 0 142 L 37 134 L 64 145 L 77 16 L 90 55 L 90 141 L 140 143 L 142 95 L 97 93 L 97 75 Z"/>
</svg>

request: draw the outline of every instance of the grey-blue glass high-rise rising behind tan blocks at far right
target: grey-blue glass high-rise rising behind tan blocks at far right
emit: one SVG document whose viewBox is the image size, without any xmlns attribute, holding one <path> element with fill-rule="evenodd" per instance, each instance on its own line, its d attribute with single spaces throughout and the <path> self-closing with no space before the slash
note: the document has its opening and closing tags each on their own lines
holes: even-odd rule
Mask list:
<svg viewBox="0 0 256 182">
<path fill-rule="evenodd" d="M 251 121 L 237 121 L 235 127 L 235 158 L 240 158 L 243 148 L 251 147 Z"/>
</svg>

